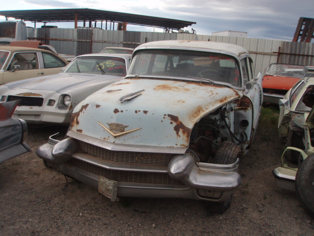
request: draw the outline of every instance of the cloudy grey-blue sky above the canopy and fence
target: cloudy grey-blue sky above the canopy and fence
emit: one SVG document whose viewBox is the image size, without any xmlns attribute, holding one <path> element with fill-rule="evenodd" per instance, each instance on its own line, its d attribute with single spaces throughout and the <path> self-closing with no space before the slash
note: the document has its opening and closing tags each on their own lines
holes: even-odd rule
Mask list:
<svg viewBox="0 0 314 236">
<path fill-rule="evenodd" d="M 91 8 L 171 18 L 196 22 L 185 30 L 193 28 L 197 34 L 234 30 L 247 32 L 250 38 L 287 41 L 292 40 L 300 17 L 314 18 L 314 0 L 1 0 L 1 10 L 57 8 Z M 0 16 L 0 20 L 4 17 Z M 74 28 L 74 23 L 58 27 Z M 160 31 L 130 25 L 127 29 Z"/>
</svg>

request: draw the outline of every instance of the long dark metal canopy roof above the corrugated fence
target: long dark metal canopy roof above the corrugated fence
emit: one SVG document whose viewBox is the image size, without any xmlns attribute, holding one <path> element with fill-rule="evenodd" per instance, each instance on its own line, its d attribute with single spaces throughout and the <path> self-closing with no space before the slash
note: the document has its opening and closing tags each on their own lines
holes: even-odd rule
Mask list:
<svg viewBox="0 0 314 236">
<path fill-rule="evenodd" d="M 114 11 L 103 11 L 89 8 L 77 9 L 43 9 L 43 10 L 13 10 L 0 11 L 1 16 L 12 17 L 34 23 L 42 22 L 86 22 L 110 21 L 127 22 L 131 25 L 148 26 L 157 28 L 182 29 L 196 22 L 181 21 L 160 17 L 143 16 Z"/>
</svg>

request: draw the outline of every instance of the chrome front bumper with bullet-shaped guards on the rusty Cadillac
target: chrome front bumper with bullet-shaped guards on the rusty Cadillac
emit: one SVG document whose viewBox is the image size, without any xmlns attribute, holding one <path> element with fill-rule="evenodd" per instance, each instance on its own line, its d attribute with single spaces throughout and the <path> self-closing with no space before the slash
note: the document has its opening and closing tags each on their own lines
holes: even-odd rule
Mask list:
<svg viewBox="0 0 314 236">
<path fill-rule="evenodd" d="M 74 177 L 94 188 L 98 188 L 99 176 L 72 166 L 68 162 L 69 158 L 74 158 L 97 168 L 113 172 L 168 174 L 171 178 L 178 179 L 184 184 L 119 181 L 117 190 L 118 197 L 187 198 L 222 202 L 227 200 L 232 194 L 232 191 L 241 183 L 241 177 L 237 173 L 239 165 L 238 159 L 235 163 L 230 165 L 196 163 L 191 155 L 185 153 L 176 155 L 167 167 L 117 163 L 79 152 L 74 152 L 70 157 L 67 157 L 71 151 L 65 151 L 68 152 L 68 154 L 65 155 L 64 161 L 62 161 L 62 158 L 55 154 L 52 155 L 52 152 L 56 152 L 54 150 L 56 143 L 58 143 L 58 141 L 54 140 L 51 136 L 49 143 L 38 148 L 36 154 L 47 162 L 58 163 L 60 173 Z"/>
</svg>

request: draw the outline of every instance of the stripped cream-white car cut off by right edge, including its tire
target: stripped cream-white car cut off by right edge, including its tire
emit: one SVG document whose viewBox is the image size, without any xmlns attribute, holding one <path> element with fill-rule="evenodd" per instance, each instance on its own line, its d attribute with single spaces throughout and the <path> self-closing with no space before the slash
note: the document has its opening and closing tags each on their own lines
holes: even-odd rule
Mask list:
<svg viewBox="0 0 314 236">
<path fill-rule="evenodd" d="M 273 170 L 276 185 L 296 190 L 301 206 L 314 217 L 314 74 L 297 82 L 279 104 L 279 137 L 286 149 L 283 165 Z"/>
</svg>

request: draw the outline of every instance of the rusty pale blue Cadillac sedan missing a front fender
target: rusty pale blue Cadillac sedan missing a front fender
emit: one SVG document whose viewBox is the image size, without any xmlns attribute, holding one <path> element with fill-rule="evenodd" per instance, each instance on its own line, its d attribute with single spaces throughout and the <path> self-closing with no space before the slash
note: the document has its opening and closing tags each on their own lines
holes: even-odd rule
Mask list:
<svg viewBox="0 0 314 236">
<path fill-rule="evenodd" d="M 75 108 L 67 138 L 37 149 L 46 167 L 121 197 L 186 198 L 223 213 L 260 117 L 262 76 L 242 47 L 157 41 L 127 76 Z"/>
</svg>

